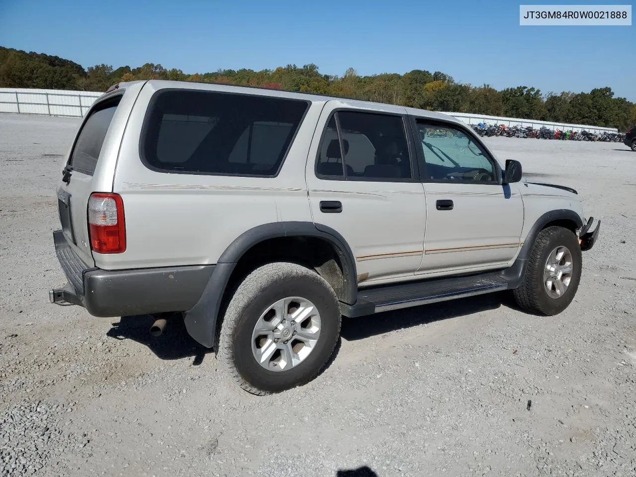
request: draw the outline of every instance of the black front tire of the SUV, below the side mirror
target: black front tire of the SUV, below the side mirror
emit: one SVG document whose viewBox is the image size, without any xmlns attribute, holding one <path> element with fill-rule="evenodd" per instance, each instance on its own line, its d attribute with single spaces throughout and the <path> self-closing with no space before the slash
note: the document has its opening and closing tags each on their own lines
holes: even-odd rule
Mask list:
<svg viewBox="0 0 636 477">
<path fill-rule="evenodd" d="M 551 279 L 551 291 L 548 291 L 548 285 L 546 284 L 546 279 L 544 279 L 548 258 L 551 258 L 551 262 L 554 261 L 555 257 L 551 257 L 551 254 L 558 247 L 565 247 L 569 252 L 570 268 L 572 269 L 569 274 L 569 280 L 567 273 L 565 271 L 562 272 L 560 281 L 565 290 L 559 290 L 560 293 L 557 291 L 559 288 L 557 277 Z M 562 251 L 562 249 L 558 250 Z M 534 245 L 532 245 L 522 284 L 513 291 L 517 305 L 527 312 L 544 316 L 557 315 L 565 310 L 574 299 L 579 287 L 582 258 L 581 245 L 579 245 L 574 232 L 557 226 L 541 230 Z M 567 263 L 567 254 L 564 252 L 560 266 L 565 263 Z M 563 268 L 563 270 L 567 270 L 567 267 Z M 547 271 L 546 273 L 558 272 Z M 567 285 L 565 284 L 566 282 Z"/>
</svg>

